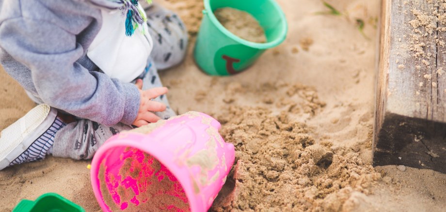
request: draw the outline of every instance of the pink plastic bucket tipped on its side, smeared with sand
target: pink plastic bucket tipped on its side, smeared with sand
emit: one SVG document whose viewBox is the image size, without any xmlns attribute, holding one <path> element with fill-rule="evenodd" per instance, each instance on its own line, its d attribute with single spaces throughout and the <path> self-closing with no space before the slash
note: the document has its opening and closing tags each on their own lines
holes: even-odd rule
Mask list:
<svg viewBox="0 0 446 212">
<path fill-rule="evenodd" d="M 189 112 L 111 137 L 91 167 L 102 210 L 207 211 L 234 163 L 219 129 L 212 117 Z"/>
</svg>

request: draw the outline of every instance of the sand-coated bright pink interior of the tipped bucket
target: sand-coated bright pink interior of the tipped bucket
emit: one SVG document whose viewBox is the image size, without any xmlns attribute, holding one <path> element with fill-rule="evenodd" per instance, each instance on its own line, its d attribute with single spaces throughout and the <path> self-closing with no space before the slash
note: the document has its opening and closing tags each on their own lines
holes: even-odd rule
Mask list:
<svg viewBox="0 0 446 212">
<path fill-rule="evenodd" d="M 100 190 L 111 211 L 190 211 L 188 198 L 181 184 L 165 166 L 138 149 L 127 150 L 132 152 L 130 157 L 124 159 L 124 165 L 119 169 L 120 180 L 106 171 L 103 163 L 99 169 Z M 138 185 L 138 195 L 135 194 L 134 187 L 128 186 L 128 182 L 134 180 Z M 115 183 L 118 183 L 117 188 L 113 186 Z M 118 201 L 113 200 L 113 193 L 119 195 Z"/>
</svg>

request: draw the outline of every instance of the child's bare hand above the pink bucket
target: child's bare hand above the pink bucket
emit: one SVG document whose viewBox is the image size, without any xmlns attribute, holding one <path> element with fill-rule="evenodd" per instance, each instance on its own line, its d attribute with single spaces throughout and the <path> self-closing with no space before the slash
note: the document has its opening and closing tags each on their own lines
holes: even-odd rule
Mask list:
<svg viewBox="0 0 446 212">
<path fill-rule="evenodd" d="M 167 88 L 161 87 L 143 91 L 143 80 L 141 79 L 136 80 L 136 87 L 138 87 L 138 90 L 140 91 L 141 100 L 138 115 L 136 115 L 133 125 L 140 127 L 148 123 L 157 122 L 161 118 L 151 111 L 161 112 L 166 110 L 166 106 L 162 103 L 152 101 L 151 99 L 166 94 L 168 91 Z"/>
</svg>

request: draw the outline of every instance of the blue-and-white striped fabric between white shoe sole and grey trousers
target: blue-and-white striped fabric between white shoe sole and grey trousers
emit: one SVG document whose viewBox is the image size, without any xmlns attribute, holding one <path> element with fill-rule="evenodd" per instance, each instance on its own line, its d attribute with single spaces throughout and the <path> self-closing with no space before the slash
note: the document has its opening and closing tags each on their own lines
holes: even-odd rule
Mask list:
<svg viewBox="0 0 446 212">
<path fill-rule="evenodd" d="M 56 132 L 65 126 L 65 123 L 56 117 L 53 124 L 48 128 L 48 130 L 38 137 L 27 150 L 23 151 L 14 161 L 12 161 L 9 166 L 16 164 L 21 164 L 25 162 L 32 162 L 37 160 L 42 160 L 45 158 L 48 150 L 53 146 L 54 136 Z"/>
</svg>

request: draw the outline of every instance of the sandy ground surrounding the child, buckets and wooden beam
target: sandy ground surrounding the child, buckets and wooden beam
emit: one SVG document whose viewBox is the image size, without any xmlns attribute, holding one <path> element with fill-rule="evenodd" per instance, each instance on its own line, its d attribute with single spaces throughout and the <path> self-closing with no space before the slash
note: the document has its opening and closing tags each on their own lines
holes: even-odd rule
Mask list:
<svg viewBox="0 0 446 212">
<path fill-rule="evenodd" d="M 190 48 L 184 63 L 161 73 L 178 113 L 216 117 L 223 137 L 236 144 L 239 174 L 229 176 L 235 189 L 213 210 L 444 211 L 445 174 L 370 166 L 379 1 L 328 1 L 342 16 L 315 15 L 327 11 L 318 0 L 278 2 L 289 23 L 287 40 L 249 70 L 207 76 Z M 202 4 L 163 3 L 186 19 L 192 47 Z M 365 22 L 364 34 L 357 18 Z M 3 129 L 34 104 L 3 70 L 0 79 Z M 328 166 L 318 152 L 332 155 Z M 0 171 L 0 211 L 47 192 L 99 211 L 89 162 L 48 157 Z"/>
</svg>

